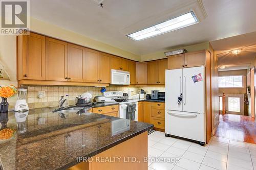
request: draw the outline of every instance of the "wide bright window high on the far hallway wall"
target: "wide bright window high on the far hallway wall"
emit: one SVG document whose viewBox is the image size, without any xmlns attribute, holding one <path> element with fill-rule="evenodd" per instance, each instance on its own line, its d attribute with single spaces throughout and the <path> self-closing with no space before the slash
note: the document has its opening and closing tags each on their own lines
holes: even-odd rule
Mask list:
<svg viewBox="0 0 256 170">
<path fill-rule="evenodd" d="M 223 76 L 219 77 L 219 87 L 243 87 L 243 76 Z"/>
</svg>

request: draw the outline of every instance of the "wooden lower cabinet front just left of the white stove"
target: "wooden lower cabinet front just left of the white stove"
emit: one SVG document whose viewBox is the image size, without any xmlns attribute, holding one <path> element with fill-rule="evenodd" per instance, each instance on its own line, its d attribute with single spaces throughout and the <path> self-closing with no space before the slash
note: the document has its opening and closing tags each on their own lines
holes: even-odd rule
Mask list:
<svg viewBox="0 0 256 170">
<path fill-rule="evenodd" d="M 92 108 L 93 113 L 119 117 L 118 105 Z"/>
</svg>

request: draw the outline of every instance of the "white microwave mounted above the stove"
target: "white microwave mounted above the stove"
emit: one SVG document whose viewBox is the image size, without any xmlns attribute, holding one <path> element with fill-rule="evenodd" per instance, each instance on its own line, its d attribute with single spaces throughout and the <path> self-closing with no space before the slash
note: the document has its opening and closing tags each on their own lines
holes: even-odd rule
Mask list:
<svg viewBox="0 0 256 170">
<path fill-rule="evenodd" d="M 117 69 L 111 69 L 111 84 L 115 85 L 129 85 L 130 72 Z"/>
</svg>

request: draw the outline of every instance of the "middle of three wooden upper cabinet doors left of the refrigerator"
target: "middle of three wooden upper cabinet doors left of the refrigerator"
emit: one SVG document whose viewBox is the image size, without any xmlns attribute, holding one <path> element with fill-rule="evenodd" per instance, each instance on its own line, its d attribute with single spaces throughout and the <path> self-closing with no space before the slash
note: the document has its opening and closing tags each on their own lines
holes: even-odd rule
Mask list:
<svg viewBox="0 0 256 170">
<path fill-rule="evenodd" d="M 158 60 L 147 62 L 147 84 L 158 84 Z"/>
</svg>

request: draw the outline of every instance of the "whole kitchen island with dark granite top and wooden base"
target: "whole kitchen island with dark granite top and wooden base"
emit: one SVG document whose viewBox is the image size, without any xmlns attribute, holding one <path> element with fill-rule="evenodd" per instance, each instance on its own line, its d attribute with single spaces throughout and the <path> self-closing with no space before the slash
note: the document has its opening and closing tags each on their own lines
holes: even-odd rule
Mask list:
<svg viewBox="0 0 256 170">
<path fill-rule="evenodd" d="M 31 109 L 25 119 L 0 113 L 2 127 L 27 129 L 0 141 L 2 169 L 147 169 L 143 159 L 153 125 L 84 109 L 53 110 Z"/>
</svg>

